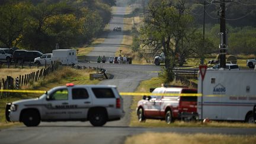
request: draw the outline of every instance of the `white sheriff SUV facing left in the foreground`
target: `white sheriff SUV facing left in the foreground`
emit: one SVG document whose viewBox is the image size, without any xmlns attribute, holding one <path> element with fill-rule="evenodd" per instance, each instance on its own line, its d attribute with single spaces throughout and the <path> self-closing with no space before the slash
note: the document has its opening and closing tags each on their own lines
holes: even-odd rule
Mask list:
<svg viewBox="0 0 256 144">
<path fill-rule="evenodd" d="M 7 104 L 7 121 L 38 126 L 40 121 L 86 121 L 103 126 L 124 116 L 123 99 L 113 85 L 73 85 L 55 87 L 40 98 Z"/>
</svg>

